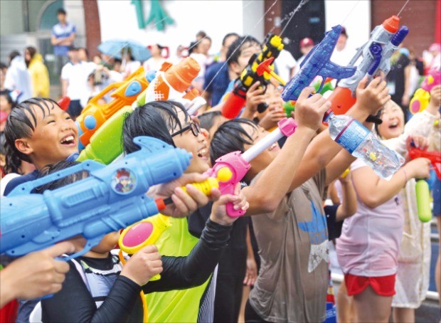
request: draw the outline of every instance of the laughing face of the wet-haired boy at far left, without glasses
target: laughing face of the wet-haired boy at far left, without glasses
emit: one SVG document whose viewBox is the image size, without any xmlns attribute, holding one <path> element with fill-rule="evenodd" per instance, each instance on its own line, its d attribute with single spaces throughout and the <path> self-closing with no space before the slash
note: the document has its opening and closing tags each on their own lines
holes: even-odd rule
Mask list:
<svg viewBox="0 0 441 323">
<path fill-rule="evenodd" d="M 52 103 L 48 105 L 51 107 Z M 58 105 L 45 113 L 40 107 L 33 106 L 33 112 L 36 126 L 31 137 L 16 139 L 15 144 L 20 152 L 29 155 L 37 169 L 78 152 L 78 129 L 67 112 Z M 31 115 L 29 119 L 33 120 Z"/>
</svg>

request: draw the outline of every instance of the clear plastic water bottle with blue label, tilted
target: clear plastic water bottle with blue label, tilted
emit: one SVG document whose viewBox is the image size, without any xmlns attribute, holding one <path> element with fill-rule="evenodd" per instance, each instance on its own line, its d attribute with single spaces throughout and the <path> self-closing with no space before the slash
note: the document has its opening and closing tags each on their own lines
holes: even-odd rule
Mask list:
<svg viewBox="0 0 441 323">
<path fill-rule="evenodd" d="M 325 117 L 331 138 L 354 157 L 362 159 L 378 176 L 389 180 L 404 163 L 403 157 L 381 144 L 376 136 L 349 115 Z"/>
</svg>

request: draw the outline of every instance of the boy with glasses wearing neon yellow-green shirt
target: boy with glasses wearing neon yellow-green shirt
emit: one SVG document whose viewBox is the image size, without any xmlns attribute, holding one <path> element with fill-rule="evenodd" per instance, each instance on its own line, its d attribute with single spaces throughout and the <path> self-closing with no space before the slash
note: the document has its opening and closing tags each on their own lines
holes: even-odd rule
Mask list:
<svg viewBox="0 0 441 323">
<path fill-rule="evenodd" d="M 139 107 L 127 116 L 122 133 L 126 153 L 139 149 L 132 143 L 134 137 L 147 135 L 191 152 L 193 159 L 186 172 L 193 171 L 202 174 L 208 170 L 207 144 L 205 137 L 201 134 L 198 119 L 191 118 L 179 103 L 158 101 Z M 171 228 L 167 229 L 156 242 L 160 252 L 174 256 L 188 255 L 193 245 L 198 242 L 210 212 L 211 205 L 208 204 L 198 208 L 188 219 L 171 219 Z M 245 218 L 239 218 L 235 222 L 232 244 L 237 245 L 237 248 L 242 248 L 242 245 L 234 237 L 246 235 L 247 223 Z M 245 245 L 243 247 L 246 252 Z M 233 247 L 230 245 L 228 248 Z M 147 295 L 151 320 L 154 322 L 196 322 L 196 320 L 213 322 L 215 287 L 216 272 L 211 280 L 199 287 Z"/>
</svg>

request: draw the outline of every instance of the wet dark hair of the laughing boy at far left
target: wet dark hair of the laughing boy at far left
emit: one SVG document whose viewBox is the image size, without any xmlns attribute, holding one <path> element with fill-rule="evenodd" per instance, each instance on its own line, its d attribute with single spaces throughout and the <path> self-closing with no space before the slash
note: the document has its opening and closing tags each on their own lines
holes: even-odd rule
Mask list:
<svg viewBox="0 0 441 323">
<path fill-rule="evenodd" d="M 29 138 L 37 126 L 37 117 L 34 109 L 40 108 L 43 117 L 51 113 L 51 110 L 57 106 L 57 102 L 47 97 L 33 97 L 16 105 L 8 115 L 4 134 L 6 136 L 6 146 L 9 154 L 6 156 L 6 168 L 9 163 L 14 162 L 16 158 L 25 162 L 32 162 L 27 154 L 20 152 L 15 145 L 16 139 Z M 11 165 L 12 166 L 12 165 Z"/>
</svg>

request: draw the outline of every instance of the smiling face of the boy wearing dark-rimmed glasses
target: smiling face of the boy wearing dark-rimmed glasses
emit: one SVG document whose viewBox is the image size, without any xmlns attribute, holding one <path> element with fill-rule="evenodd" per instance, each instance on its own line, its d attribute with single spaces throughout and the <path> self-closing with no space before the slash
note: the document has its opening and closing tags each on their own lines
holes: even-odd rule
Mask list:
<svg viewBox="0 0 441 323">
<path fill-rule="evenodd" d="M 181 121 L 182 127 L 186 127 L 189 125 L 190 122 L 185 121 L 185 114 L 182 111 L 178 112 L 179 120 Z M 199 122 L 197 117 L 193 117 L 194 122 Z M 170 132 L 170 134 L 173 134 L 174 132 L 178 132 L 180 129 L 179 127 L 175 127 L 173 131 Z M 197 136 L 193 134 L 191 129 L 186 130 L 185 132 L 181 134 L 177 134 L 173 137 L 174 144 L 176 147 L 186 149 L 187 152 L 191 152 L 193 154 L 193 158 L 191 159 L 190 166 L 186 169 L 186 173 L 203 173 L 204 171 L 208 170 L 208 149 L 207 149 L 207 142 L 205 137 L 201 133 L 199 133 Z"/>
</svg>

